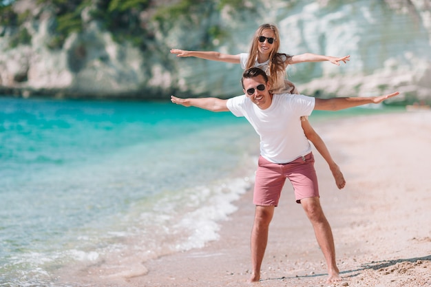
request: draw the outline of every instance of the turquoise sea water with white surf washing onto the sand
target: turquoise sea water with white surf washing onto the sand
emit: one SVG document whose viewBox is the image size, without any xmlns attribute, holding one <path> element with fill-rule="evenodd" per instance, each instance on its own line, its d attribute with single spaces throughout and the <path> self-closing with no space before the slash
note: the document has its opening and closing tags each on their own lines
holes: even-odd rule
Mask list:
<svg viewBox="0 0 431 287">
<path fill-rule="evenodd" d="M 369 112 L 381 111 L 311 121 Z M 0 145 L 0 286 L 74 286 L 56 271 L 217 240 L 258 153 L 230 113 L 12 97 L 0 98 Z"/>
</svg>

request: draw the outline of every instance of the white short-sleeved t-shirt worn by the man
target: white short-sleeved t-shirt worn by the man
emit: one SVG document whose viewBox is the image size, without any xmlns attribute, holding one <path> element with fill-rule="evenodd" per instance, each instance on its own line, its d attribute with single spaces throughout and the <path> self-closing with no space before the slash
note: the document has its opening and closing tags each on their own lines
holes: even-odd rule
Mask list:
<svg viewBox="0 0 431 287">
<path fill-rule="evenodd" d="M 274 163 L 291 162 L 311 152 L 300 117 L 310 116 L 315 98 L 298 94 L 273 94 L 271 106 L 260 109 L 247 96 L 227 100 L 235 116 L 244 116 L 260 136 L 260 155 Z"/>
</svg>

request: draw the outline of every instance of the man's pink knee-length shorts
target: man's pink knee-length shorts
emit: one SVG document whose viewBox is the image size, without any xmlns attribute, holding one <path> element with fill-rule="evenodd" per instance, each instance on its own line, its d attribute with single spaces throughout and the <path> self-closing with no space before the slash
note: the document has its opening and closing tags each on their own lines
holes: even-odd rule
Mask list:
<svg viewBox="0 0 431 287">
<path fill-rule="evenodd" d="M 286 164 L 273 163 L 260 156 L 258 165 L 253 195 L 255 205 L 277 206 L 286 178 L 293 185 L 297 203 L 303 198 L 319 197 L 313 153 Z"/>
</svg>

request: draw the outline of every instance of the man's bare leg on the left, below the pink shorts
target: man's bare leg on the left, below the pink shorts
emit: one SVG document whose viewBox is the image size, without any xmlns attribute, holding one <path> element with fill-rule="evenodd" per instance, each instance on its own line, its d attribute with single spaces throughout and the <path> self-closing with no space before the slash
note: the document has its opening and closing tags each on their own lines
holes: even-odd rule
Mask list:
<svg viewBox="0 0 431 287">
<path fill-rule="evenodd" d="M 274 206 L 256 206 L 255 220 L 251 230 L 251 277 L 250 282 L 260 280 L 260 266 L 268 242 L 269 224 L 273 219 Z"/>
</svg>

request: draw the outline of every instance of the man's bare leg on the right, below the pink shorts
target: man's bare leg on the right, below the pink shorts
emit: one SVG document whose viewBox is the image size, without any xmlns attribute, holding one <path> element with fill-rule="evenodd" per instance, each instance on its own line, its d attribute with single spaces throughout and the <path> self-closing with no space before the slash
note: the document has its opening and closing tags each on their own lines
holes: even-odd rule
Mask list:
<svg viewBox="0 0 431 287">
<path fill-rule="evenodd" d="M 341 281 L 337 262 L 335 262 L 334 237 L 328 220 L 323 213 L 319 198 L 304 198 L 301 200 L 302 207 L 313 225 L 317 243 L 322 249 L 328 268 L 328 283 Z"/>
</svg>

